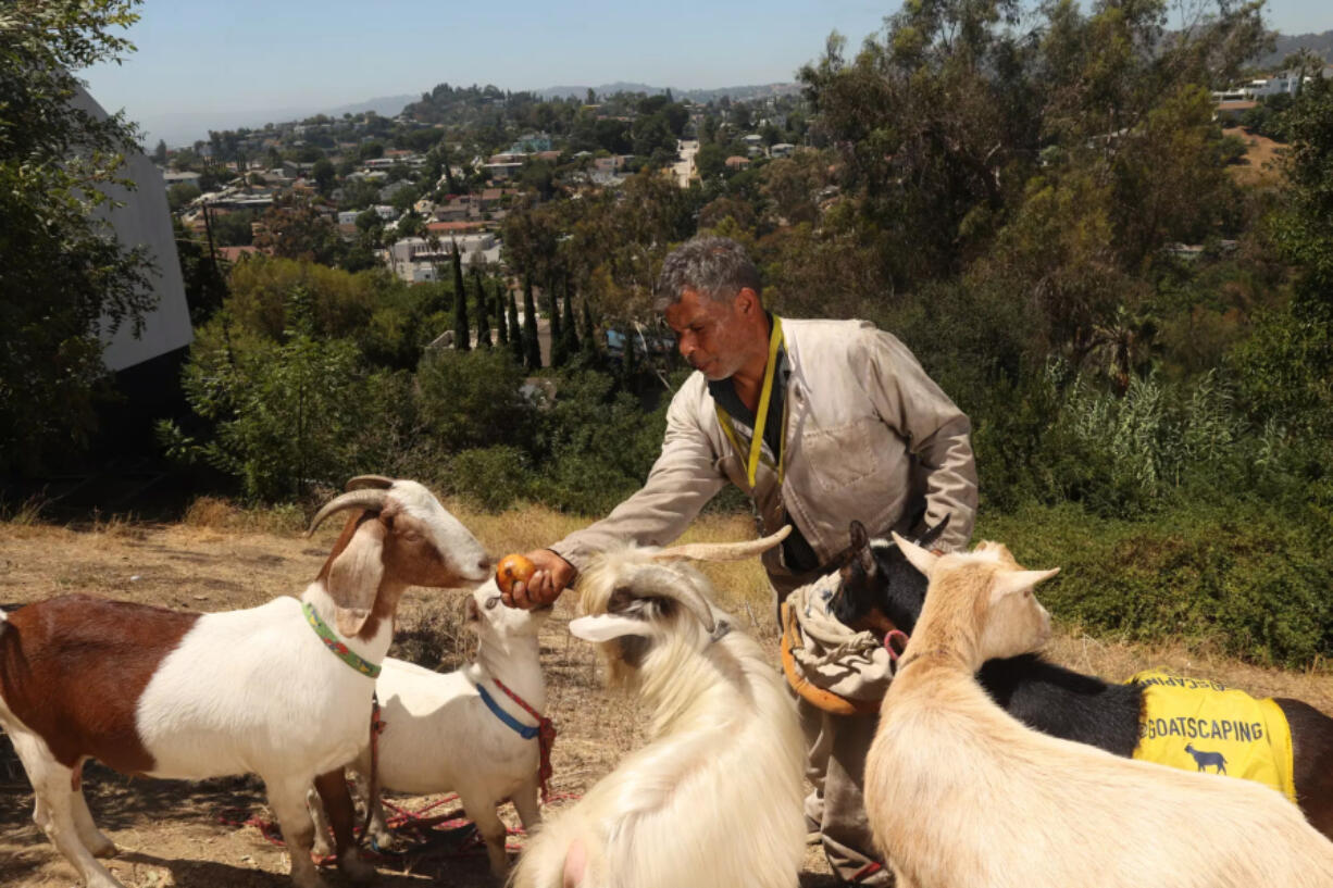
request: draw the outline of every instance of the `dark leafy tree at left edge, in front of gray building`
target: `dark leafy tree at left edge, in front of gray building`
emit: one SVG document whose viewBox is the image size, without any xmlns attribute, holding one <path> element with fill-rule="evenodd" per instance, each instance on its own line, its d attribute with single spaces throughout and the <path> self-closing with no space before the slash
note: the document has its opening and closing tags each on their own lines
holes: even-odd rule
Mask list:
<svg viewBox="0 0 1333 888">
<path fill-rule="evenodd" d="M 103 332 L 141 329 L 153 273 L 95 211 L 107 185 L 128 185 L 121 156 L 135 127 L 69 103 L 72 72 L 133 49 L 113 31 L 136 0 L 0 9 L 0 471 L 37 469 L 83 451 L 109 393 Z"/>
</svg>

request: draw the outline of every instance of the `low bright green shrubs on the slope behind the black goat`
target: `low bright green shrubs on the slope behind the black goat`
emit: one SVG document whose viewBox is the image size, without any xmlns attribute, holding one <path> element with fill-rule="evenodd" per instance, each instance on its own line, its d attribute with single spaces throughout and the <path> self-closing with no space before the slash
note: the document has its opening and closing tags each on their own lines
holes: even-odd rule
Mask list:
<svg viewBox="0 0 1333 888">
<path fill-rule="evenodd" d="M 1333 655 L 1333 556 L 1318 523 L 1265 503 L 1180 504 L 1148 520 L 1077 505 L 986 512 L 977 535 L 1030 567 L 1052 613 L 1132 640 L 1188 637 L 1260 663 Z"/>
</svg>

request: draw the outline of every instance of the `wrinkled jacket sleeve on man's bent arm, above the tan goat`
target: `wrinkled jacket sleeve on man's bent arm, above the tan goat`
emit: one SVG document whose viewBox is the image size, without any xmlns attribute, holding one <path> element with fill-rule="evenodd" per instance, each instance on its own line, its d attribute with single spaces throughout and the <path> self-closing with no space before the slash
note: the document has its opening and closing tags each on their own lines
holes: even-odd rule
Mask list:
<svg viewBox="0 0 1333 888">
<path fill-rule="evenodd" d="M 972 423 L 926 376 L 906 345 L 890 333 L 869 329 L 858 340 L 865 385 L 880 417 L 908 443 L 924 472 L 926 521 L 945 515 L 942 549 L 964 549 L 977 520 L 977 464 Z"/>
</svg>

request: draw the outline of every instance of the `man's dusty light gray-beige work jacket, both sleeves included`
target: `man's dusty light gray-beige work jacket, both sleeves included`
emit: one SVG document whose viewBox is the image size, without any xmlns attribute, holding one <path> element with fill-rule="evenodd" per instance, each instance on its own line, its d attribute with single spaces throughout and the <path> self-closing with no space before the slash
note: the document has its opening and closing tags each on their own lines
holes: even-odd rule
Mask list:
<svg viewBox="0 0 1333 888">
<path fill-rule="evenodd" d="M 730 481 L 754 503 L 764 533 L 790 515 L 821 563 L 848 545 L 848 524 L 870 533 L 906 531 L 925 499 L 926 521 L 949 515 L 941 537 L 958 549 L 972 537 L 977 471 L 970 424 L 894 336 L 858 320 L 782 320 L 790 361 L 785 476 L 764 448 L 754 485 L 745 463 L 750 429 L 736 424 L 737 453 L 717 419 L 702 373 L 672 399 L 661 455 L 644 487 L 611 515 L 551 547 L 580 571 L 597 551 L 624 541 L 665 545 Z M 794 583 L 781 547 L 764 556 L 774 588 Z"/>
</svg>

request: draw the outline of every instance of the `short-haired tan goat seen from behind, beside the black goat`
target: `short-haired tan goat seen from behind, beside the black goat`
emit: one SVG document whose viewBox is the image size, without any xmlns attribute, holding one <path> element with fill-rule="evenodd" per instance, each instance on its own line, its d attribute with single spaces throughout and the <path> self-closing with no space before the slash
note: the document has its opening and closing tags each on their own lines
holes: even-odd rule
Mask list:
<svg viewBox="0 0 1333 888">
<path fill-rule="evenodd" d="M 1050 619 L 1002 545 L 934 556 L 894 535 L 930 589 L 880 709 L 865 809 L 898 888 L 1329 888 L 1333 843 L 1257 783 L 1121 759 L 1038 733 L 977 684 Z"/>
</svg>

